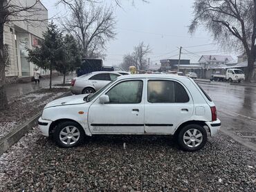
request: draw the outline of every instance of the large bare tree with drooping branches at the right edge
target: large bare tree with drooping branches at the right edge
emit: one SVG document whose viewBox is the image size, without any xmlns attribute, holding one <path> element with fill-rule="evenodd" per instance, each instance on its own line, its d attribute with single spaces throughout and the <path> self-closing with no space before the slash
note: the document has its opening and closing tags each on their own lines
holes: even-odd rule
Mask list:
<svg viewBox="0 0 256 192">
<path fill-rule="evenodd" d="M 246 81 L 253 76 L 256 59 L 256 0 L 195 0 L 189 32 L 201 25 L 214 40 L 229 48 L 242 48 L 248 58 Z"/>
</svg>

